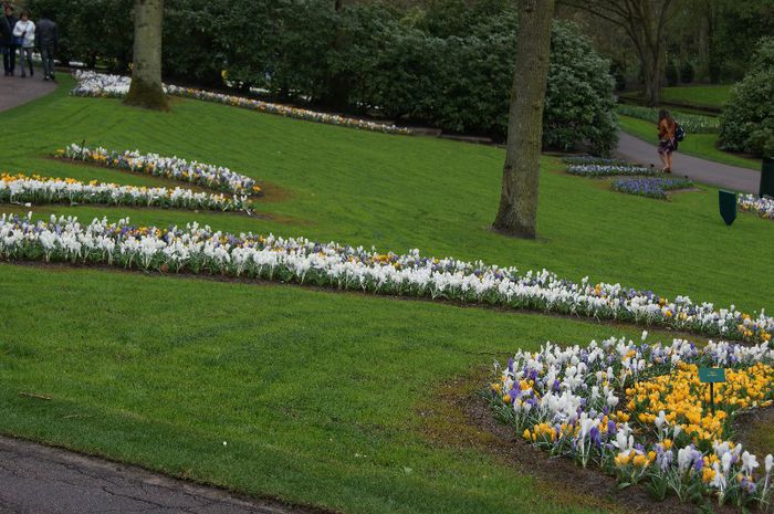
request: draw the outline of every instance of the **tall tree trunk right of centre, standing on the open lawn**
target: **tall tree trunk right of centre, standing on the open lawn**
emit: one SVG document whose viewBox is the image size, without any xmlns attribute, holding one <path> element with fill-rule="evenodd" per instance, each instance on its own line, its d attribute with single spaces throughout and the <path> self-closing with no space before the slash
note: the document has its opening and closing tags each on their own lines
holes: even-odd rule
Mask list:
<svg viewBox="0 0 774 514">
<path fill-rule="evenodd" d="M 493 228 L 534 239 L 543 140 L 543 104 L 548 76 L 555 0 L 519 0 L 516 70 L 508 119 L 500 209 Z"/>
</svg>

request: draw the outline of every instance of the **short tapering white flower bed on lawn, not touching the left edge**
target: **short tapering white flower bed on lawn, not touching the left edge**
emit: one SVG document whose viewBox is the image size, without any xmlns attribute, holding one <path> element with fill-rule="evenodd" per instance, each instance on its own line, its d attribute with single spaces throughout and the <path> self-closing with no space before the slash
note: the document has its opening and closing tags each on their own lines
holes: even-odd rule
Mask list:
<svg viewBox="0 0 774 514">
<path fill-rule="evenodd" d="M 74 143 L 59 149 L 54 157 L 148 174 L 236 195 L 259 195 L 261 192 L 255 180 L 248 176 L 231 171 L 222 166 L 207 165 L 196 160 L 189 162 L 179 157 L 140 154 L 138 150 L 117 151 L 105 148 L 88 148 Z"/>
</svg>

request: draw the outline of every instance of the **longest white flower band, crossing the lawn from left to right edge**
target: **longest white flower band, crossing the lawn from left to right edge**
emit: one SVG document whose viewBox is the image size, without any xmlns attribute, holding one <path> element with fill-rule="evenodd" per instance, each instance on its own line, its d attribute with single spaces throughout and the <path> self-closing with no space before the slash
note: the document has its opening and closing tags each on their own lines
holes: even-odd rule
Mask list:
<svg viewBox="0 0 774 514">
<path fill-rule="evenodd" d="M 310 283 L 376 294 L 449 298 L 510 308 L 557 312 L 576 316 L 653 324 L 708 336 L 770 340 L 774 318 L 712 304 L 673 300 L 619 284 L 573 283 L 548 271 L 520 274 L 515 268 L 469 263 L 456 259 L 379 254 L 363 248 L 321 244 L 252 233 L 213 232 L 208 227 L 185 230 L 137 228 L 75 218 L 48 222 L 3 214 L 0 256 L 9 260 L 108 263 L 156 271 L 187 271 Z"/>
</svg>

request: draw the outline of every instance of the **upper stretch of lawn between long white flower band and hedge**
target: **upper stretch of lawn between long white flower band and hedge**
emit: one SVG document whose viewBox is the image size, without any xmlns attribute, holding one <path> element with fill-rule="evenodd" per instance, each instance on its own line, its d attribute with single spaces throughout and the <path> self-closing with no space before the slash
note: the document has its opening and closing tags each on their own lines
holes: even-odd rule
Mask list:
<svg viewBox="0 0 774 514">
<path fill-rule="evenodd" d="M 715 190 L 709 188 L 676 196 L 669 203 L 652 201 L 611 192 L 604 181 L 567 176 L 556 159 L 545 158 L 540 237 L 524 241 L 489 230 L 504 159 L 503 150 L 490 146 L 365 133 L 196 101 L 176 99 L 172 113 L 157 114 L 127 109 L 112 99 L 71 97 L 66 86 L 0 116 L 14 127 L 0 141 L 2 169 L 157 183 L 48 155 L 84 139 L 108 148 L 178 155 L 268 182 L 269 195 L 259 200 L 258 210 L 273 220 L 154 209 L 33 209 L 42 214 L 84 220 L 129 216 L 137 223 L 165 227 L 199 221 L 237 232 L 376 245 L 385 252 L 419 248 L 436 256 L 546 268 L 572 280 L 587 275 L 749 310 L 770 301 L 765 281 L 742 285 L 740 280 L 743 274 L 767 276 L 768 263 L 760 256 L 774 249 L 771 223 L 742 216 L 728 229 L 718 216 Z"/>
</svg>

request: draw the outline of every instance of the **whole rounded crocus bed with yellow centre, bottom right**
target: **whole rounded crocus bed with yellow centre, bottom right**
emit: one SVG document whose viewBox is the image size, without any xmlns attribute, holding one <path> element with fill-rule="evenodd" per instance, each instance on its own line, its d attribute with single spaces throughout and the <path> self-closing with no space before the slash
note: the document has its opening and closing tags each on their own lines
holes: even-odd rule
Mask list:
<svg viewBox="0 0 774 514">
<path fill-rule="evenodd" d="M 725 439 L 740 412 L 772 405 L 774 350 L 766 343 L 649 345 L 646 334 L 641 344 L 613 338 L 519 352 L 492 384 L 492 405 L 532 444 L 594 463 L 621 486 L 644 481 L 658 499 L 712 494 L 720 503 L 765 505 L 774 458 L 757 470 L 755 455 Z M 699 366 L 726 368 L 714 413 Z"/>
</svg>

